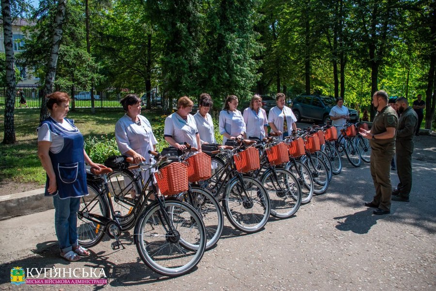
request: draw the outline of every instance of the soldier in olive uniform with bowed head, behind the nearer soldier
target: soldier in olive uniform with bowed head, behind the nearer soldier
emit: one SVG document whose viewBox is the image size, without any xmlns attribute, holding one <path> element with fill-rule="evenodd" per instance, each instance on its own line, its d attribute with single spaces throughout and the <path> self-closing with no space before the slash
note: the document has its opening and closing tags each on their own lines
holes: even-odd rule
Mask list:
<svg viewBox="0 0 436 291">
<path fill-rule="evenodd" d="M 413 134 L 418 127 L 418 114 L 409 106 L 405 97 L 398 98 L 395 104 L 398 113 L 401 114 L 395 140 L 397 172 L 400 183 L 392 191 L 392 200 L 408 202 L 412 189 Z"/>
</svg>

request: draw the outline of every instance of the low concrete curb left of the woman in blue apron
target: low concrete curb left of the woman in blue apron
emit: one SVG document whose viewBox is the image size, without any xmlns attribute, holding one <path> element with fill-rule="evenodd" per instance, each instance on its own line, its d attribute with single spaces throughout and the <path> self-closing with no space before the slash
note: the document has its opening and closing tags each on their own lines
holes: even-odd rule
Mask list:
<svg viewBox="0 0 436 291">
<path fill-rule="evenodd" d="M 53 198 L 44 196 L 44 188 L 0 196 L 0 220 L 53 208 Z"/>
</svg>

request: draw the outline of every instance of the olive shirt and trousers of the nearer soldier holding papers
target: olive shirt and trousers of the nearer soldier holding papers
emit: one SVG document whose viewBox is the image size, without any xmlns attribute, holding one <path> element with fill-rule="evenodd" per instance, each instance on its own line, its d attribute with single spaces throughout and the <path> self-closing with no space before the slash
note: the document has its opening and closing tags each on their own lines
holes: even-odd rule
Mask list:
<svg viewBox="0 0 436 291">
<path fill-rule="evenodd" d="M 397 128 L 398 117 L 389 105 L 380 110 L 374 117 L 371 134 L 380 134 L 387 128 Z M 377 138 L 377 137 L 375 137 Z M 371 176 L 373 177 L 375 195 L 372 203 L 379 209 L 390 210 L 392 186 L 390 183 L 390 162 L 395 154 L 395 135 L 390 139 L 372 139 Z"/>
</svg>

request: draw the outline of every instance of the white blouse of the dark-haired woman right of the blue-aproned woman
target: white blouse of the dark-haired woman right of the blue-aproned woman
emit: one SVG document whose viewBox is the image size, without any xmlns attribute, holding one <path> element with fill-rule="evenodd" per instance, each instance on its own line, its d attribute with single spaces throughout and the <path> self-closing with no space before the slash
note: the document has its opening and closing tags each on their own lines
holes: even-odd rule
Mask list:
<svg viewBox="0 0 436 291">
<path fill-rule="evenodd" d="M 128 150 L 134 150 L 146 162 L 154 163 L 154 159 L 148 153 L 157 144 L 150 122 L 142 115 L 138 115 L 139 123 L 133 122 L 128 115 L 121 117 L 115 124 L 115 139 L 118 149 L 125 155 Z"/>
</svg>

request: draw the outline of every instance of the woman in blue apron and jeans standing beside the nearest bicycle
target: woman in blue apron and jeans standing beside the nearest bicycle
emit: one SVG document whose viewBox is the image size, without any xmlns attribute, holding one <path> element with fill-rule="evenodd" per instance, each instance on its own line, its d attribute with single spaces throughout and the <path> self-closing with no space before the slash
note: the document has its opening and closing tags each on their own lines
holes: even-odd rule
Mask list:
<svg viewBox="0 0 436 291">
<path fill-rule="evenodd" d="M 100 169 L 84 150 L 83 135 L 66 119 L 71 98 L 63 92 L 47 96 L 50 117 L 38 127 L 38 156 L 47 172 L 46 196 L 53 196 L 55 229 L 61 256 L 69 261 L 90 252 L 77 242 L 77 211 L 80 197 L 88 195 L 85 162 Z"/>
</svg>

